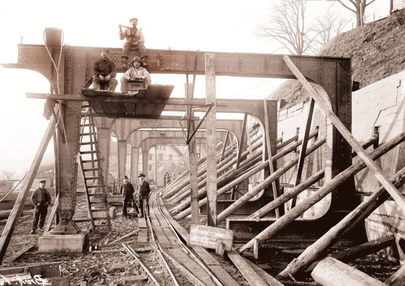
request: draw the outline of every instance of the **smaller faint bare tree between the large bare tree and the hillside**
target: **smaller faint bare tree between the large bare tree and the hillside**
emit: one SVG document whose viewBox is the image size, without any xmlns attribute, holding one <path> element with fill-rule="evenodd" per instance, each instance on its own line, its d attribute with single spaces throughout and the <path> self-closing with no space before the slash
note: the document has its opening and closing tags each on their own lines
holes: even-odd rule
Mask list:
<svg viewBox="0 0 405 286">
<path fill-rule="evenodd" d="M 342 19 L 337 14 L 332 15 L 330 11 L 317 17 L 313 26 L 313 30 L 317 33 L 314 43 L 321 47 L 341 33 L 348 23 L 348 20 Z"/>
</svg>

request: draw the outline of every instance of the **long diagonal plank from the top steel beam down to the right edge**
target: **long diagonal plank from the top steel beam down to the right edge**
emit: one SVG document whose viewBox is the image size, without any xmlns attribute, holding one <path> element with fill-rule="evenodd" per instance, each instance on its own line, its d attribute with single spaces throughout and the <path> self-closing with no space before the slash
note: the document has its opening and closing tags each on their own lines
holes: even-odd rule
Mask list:
<svg viewBox="0 0 405 286">
<path fill-rule="evenodd" d="M 336 114 L 328 107 L 325 102 L 319 97 L 319 94 L 315 91 L 312 85 L 306 80 L 306 78 L 302 75 L 302 73 L 298 70 L 298 68 L 294 65 L 291 61 L 289 56 L 283 56 L 282 59 L 286 62 L 287 66 L 293 72 L 293 74 L 297 77 L 297 79 L 301 82 L 301 84 L 305 87 L 305 89 L 309 92 L 311 97 L 315 100 L 318 107 L 325 113 L 327 118 L 331 120 L 333 125 L 342 136 L 346 139 L 346 141 L 350 144 L 350 146 L 356 151 L 357 155 L 361 158 L 361 160 L 369 167 L 369 169 L 373 172 L 376 176 L 378 181 L 386 188 L 387 192 L 391 195 L 391 197 L 395 200 L 395 202 L 399 205 L 399 207 L 405 211 L 405 198 L 402 197 L 399 190 L 385 177 L 381 169 L 377 166 L 376 162 L 374 162 L 369 155 L 367 155 L 366 151 L 361 147 L 359 142 L 353 137 L 353 135 L 347 130 L 347 128 L 343 125 L 340 119 L 336 116 Z"/>
</svg>

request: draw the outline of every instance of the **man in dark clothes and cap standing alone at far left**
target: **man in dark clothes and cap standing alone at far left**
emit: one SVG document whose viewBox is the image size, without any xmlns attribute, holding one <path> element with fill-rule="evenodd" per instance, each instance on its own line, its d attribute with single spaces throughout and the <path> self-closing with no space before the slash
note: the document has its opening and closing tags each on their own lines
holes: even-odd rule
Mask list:
<svg viewBox="0 0 405 286">
<path fill-rule="evenodd" d="M 45 224 L 45 218 L 48 213 L 48 206 L 52 202 L 51 195 L 48 190 L 45 188 L 46 180 L 39 181 L 39 187 L 34 190 L 31 196 L 31 201 L 35 206 L 34 216 L 32 218 L 32 230 L 31 234 L 35 233 L 35 230 L 44 231 L 43 227 Z M 41 217 L 41 219 L 39 218 Z M 39 220 L 39 227 L 38 226 Z"/>
</svg>

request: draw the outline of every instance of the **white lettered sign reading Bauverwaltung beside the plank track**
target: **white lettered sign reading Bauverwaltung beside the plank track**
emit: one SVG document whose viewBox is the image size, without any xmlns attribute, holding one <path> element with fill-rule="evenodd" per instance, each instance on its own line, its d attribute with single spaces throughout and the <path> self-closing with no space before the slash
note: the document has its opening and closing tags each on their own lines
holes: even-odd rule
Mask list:
<svg viewBox="0 0 405 286">
<path fill-rule="evenodd" d="M 212 249 L 215 249 L 217 241 L 221 240 L 225 244 L 225 250 L 231 250 L 233 230 L 201 224 L 191 224 L 189 240 L 190 245 Z"/>
</svg>

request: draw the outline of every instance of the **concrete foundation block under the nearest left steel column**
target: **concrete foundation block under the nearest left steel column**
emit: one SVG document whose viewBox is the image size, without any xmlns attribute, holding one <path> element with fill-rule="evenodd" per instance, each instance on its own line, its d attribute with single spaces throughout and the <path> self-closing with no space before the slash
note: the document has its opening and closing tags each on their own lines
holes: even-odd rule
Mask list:
<svg viewBox="0 0 405 286">
<path fill-rule="evenodd" d="M 87 250 L 90 231 L 81 229 L 77 234 L 52 234 L 48 232 L 38 239 L 38 251 L 42 253 L 77 253 Z"/>
</svg>

